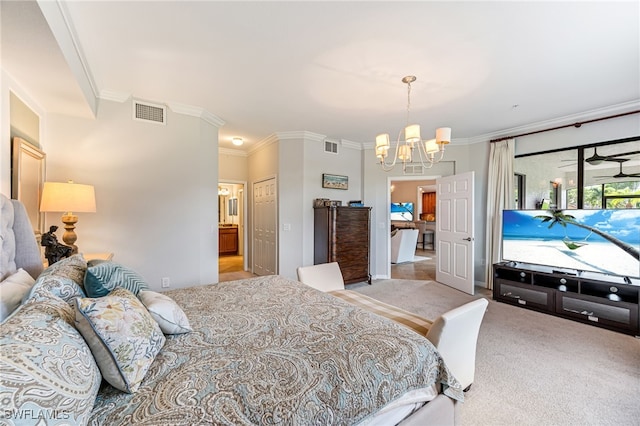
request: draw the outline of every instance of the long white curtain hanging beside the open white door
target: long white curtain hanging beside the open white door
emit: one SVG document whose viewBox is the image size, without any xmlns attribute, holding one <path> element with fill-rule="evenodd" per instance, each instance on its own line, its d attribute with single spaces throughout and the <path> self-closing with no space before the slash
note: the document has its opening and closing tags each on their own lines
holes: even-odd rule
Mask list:
<svg viewBox="0 0 640 426">
<path fill-rule="evenodd" d="M 491 143 L 487 183 L 487 241 L 485 250 L 487 254 L 485 282 L 488 289 L 493 289 L 492 265 L 502 258 L 500 253 L 502 210 L 512 209 L 515 204 L 513 192 L 514 153 L 515 139 Z"/>
</svg>

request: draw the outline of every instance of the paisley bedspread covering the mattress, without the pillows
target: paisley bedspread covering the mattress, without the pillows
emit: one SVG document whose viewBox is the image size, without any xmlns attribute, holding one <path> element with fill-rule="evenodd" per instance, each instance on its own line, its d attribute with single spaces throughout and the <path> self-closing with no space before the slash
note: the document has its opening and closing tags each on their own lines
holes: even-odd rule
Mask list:
<svg viewBox="0 0 640 426">
<path fill-rule="evenodd" d="M 194 331 L 167 336 L 135 394 L 103 384 L 90 424 L 352 425 L 434 384 L 462 400 L 426 338 L 301 283 L 165 294 Z"/>
</svg>

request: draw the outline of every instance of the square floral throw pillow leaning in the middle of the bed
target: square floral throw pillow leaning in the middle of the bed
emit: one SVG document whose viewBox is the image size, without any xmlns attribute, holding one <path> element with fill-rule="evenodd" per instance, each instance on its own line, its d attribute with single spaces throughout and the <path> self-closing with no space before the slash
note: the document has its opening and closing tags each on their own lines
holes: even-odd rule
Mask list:
<svg viewBox="0 0 640 426">
<path fill-rule="evenodd" d="M 138 390 L 165 337 L 133 293 L 118 287 L 108 296 L 75 299 L 76 327 L 103 378 L 127 393 Z"/>
</svg>

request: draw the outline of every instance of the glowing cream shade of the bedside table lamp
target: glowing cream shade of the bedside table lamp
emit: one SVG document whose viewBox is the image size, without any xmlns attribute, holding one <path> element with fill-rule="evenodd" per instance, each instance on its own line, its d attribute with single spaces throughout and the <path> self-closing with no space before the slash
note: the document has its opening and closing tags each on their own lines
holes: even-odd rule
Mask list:
<svg viewBox="0 0 640 426">
<path fill-rule="evenodd" d="M 45 182 L 40 200 L 41 212 L 95 212 L 96 195 L 93 185 Z"/>
</svg>

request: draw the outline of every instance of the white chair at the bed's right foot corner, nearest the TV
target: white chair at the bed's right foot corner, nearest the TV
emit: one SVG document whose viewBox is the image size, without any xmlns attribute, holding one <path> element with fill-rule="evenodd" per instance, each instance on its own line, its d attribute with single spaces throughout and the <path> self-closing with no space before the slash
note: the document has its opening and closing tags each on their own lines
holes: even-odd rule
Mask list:
<svg viewBox="0 0 640 426">
<path fill-rule="evenodd" d="M 475 377 L 478 333 L 488 305 L 487 299 L 482 298 L 447 311 L 427 332 L 427 339 L 465 391 L 471 388 Z"/>
</svg>

